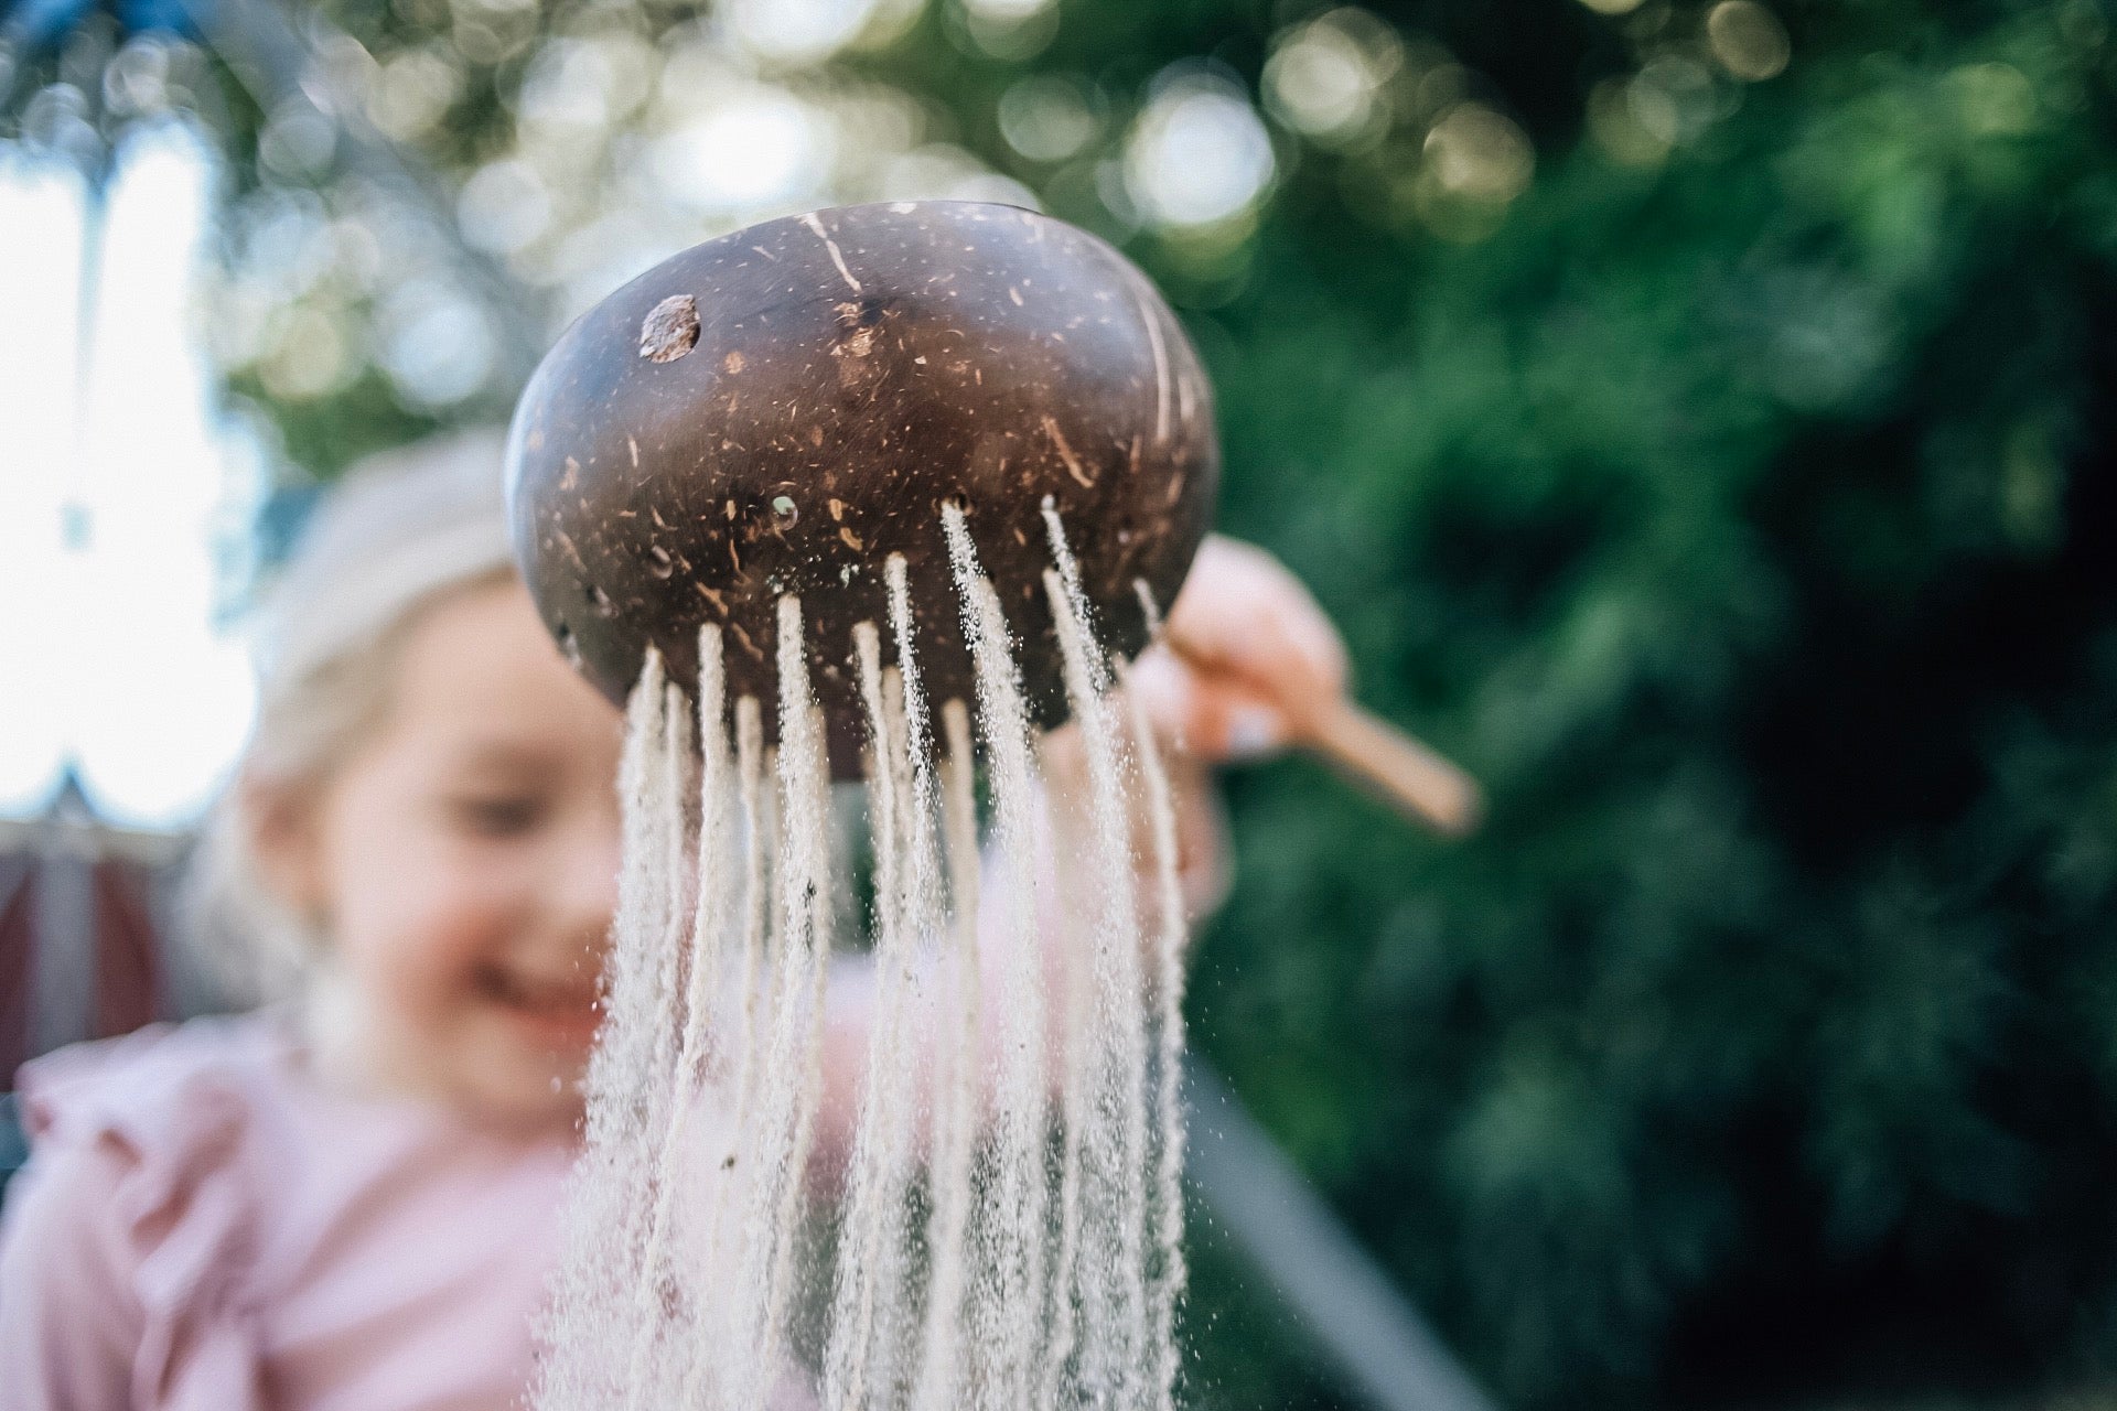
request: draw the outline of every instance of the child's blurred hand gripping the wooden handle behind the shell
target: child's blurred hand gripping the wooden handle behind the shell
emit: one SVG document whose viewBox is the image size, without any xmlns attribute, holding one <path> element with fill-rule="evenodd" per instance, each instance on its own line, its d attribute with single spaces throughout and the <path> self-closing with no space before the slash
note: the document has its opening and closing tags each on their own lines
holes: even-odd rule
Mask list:
<svg viewBox="0 0 2117 1411">
<path fill-rule="evenodd" d="M 1133 685 L 1194 759 L 1253 759 L 1344 696 L 1344 641 L 1285 565 L 1209 535 L 1169 609 L 1169 641 L 1141 654 Z"/>
</svg>

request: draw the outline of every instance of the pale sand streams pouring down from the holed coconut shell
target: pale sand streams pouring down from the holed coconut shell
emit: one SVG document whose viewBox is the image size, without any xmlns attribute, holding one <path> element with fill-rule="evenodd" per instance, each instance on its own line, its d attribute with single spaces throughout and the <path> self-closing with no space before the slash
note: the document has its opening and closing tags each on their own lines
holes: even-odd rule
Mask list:
<svg viewBox="0 0 2117 1411">
<path fill-rule="evenodd" d="M 540 1411 L 1175 1403 L 1169 781 L 1058 514 L 1044 590 L 1069 738 L 1031 723 L 961 510 L 931 531 L 974 700 L 927 698 L 902 556 L 887 618 L 828 643 L 864 715 L 872 857 L 836 825 L 798 597 L 777 601 L 777 747 L 760 702 L 730 698 L 720 626 L 696 679 L 646 656 Z M 834 958 L 862 861 L 868 954 Z M 824 1151 L 840 986 L 868 996 L 866 1053 L 849 1140 Z"/>
</svg>

